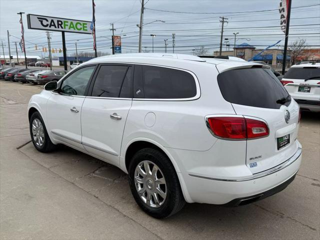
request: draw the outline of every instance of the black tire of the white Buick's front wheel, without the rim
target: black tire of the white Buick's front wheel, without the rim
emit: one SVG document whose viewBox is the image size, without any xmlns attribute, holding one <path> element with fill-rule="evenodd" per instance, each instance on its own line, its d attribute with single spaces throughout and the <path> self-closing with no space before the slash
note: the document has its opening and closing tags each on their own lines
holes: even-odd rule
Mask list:
<svg viewBox="0 0 320 240">
<path fill-rule="evenodd" d="M 36 141 L 34 140 L 34 137 L 33 137 L 33 133 L 32 133 L 32 123 L 33 123 L 33 120 L 34 119 L 38 119 L 41 124 L 42 124 L 42 127 L 43 127 L 43 135 L 44 135 L 44 140 L 43 140 L 43 143 L 41 145 L 37 144 Z M 40 115 L 40 113 L 38 111 L 35 111 L 32 113 L 31 117 L 30 117 L 30 120 L 29 120 L 29 130 L 30 130 L 30 136 L 31 136 L 31 140 L 32 140 L 32 143 L 34 145 L 34 147 L 38 150 L 38 151 L 41 151 L 41 152 L 50 152 L 52 150 L 55 149 L 56 145 L 54 145 L 52 143 L 52 141 L 50 140 L 49 138 L 49 135 L 46 131 L 46 128 L 45 128 L 45 125 L 44 125 L 44 122 L 43 122 L 43 119 Z"/>
</svg>

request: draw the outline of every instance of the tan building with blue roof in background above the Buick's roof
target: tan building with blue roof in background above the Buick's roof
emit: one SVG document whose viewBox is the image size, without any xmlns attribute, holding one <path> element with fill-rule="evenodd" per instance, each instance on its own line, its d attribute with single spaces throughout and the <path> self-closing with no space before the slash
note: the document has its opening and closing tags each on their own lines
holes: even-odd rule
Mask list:
<svg viewBox="0 0 320 240">
<path fill-rule="evenodd" d="M 256 49 L 255 46 L 252 46 L 246 42 L 243 42 L 239 45 L 235 45 L 233 50 L 222 51 L 221 55 L 224 56 L 236 56 L 244 60 L 249 60 L 253 57 L 252 61 L 264 61 L 273 67 L 282 65 L 283 60 L 283 50 L 282 49 L 267 49 L 261 54 L 257 55 L 263 49 Z M 214 51 L 214 55 L 218 55 L 219 51 Z M 256 56 L 257 55 L 257 56 Z M 287 66 L 290 65 L 290 56 L 287 56 L 286 59 Z"/>
</svg>

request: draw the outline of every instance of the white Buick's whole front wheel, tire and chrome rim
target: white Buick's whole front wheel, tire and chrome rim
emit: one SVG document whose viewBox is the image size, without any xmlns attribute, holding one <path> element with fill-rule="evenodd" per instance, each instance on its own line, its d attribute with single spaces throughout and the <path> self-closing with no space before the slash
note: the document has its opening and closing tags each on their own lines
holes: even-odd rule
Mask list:
<svg viewBox="0 0 320 240">
<path fill-rule="evenodd" d="M 39 112 L 33 112 L 30 117 L 30 136 L 34 147 L 41 152 L 49 152 L 55 145 L 49 138 L 43 119 Z"/>
</svg>

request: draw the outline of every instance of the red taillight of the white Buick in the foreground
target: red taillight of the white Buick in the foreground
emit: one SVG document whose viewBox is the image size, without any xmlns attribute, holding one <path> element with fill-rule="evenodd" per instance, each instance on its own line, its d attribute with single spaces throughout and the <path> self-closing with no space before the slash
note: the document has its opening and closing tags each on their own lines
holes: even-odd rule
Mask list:
<svg viewBox="0 0 320 240">
<path fill-rule="evenodd" d="M 265 122 L 231 116 L 217 116 L 207 118 L 208 127 L 218 137 L 231 139 L 246 139 L 267 136 L 268 126 Z"/>
</svg>

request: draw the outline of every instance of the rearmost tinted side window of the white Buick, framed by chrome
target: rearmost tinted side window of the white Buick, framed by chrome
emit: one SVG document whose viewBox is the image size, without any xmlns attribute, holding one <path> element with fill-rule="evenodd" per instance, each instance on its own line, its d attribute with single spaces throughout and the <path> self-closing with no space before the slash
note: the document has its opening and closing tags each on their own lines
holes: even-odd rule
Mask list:
<svg viewBox="0 0 320 240">
<path fill-rule="evenodd" d="M 142 66 L 144 98 L 189 98 L 196 95 L 194 77 L 183 70 Z"/>
</svg>

